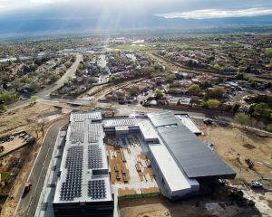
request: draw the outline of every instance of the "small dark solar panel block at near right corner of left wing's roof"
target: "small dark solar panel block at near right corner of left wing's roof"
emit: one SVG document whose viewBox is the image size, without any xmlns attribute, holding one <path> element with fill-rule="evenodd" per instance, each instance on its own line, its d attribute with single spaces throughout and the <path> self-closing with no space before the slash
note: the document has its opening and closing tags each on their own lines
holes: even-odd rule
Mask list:
<svg viewBox="0 0 272 217">
<path fill-rule="evenodd" d="M 106 198 L 106 187 L 104 180 L 92 180 L 88 182 L 88 196 L 92 200 Z"/>
</svg>

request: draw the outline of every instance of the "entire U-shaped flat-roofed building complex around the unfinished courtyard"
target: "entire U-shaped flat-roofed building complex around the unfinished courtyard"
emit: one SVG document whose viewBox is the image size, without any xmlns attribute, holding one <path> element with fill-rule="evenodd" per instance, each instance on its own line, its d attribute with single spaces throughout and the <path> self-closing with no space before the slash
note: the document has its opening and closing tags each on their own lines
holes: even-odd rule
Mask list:
<svg viewBox="0 0 272 217">
<path fill-rule="evenodd" d="M 198 192 L 202 180 L 236 175 L 199 140 L 200 131 L 188 115 L 164 111 L 102 119 L 97 111 L 73 113 L 53 199 L 55 216 L 112 216 L 111 171 L 103 138 L 135 133 L 144 141 L 142 150 L 161 193 L 170 199 Z"/>
</svg>

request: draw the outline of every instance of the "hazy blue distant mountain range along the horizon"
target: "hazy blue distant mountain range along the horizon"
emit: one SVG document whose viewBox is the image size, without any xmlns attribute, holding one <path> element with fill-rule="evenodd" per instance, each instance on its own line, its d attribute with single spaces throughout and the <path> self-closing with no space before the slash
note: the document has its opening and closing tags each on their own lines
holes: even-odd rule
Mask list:
<svg viewBox="0 0 272 217">
<path fill-rule="evenodd" d="M 190 29 L 225 29 L 245 28 L 247 26 L 257 26 L 264 29 L 272 26 L 272 15 L 237 18 L 217 18 L 217 19 L 166 19 L 156 15 L 128 16 L 122 17 L 118 23 L 114 15 L 107 20 L 101 21 L 99 18 L 73 18 L 73 19 L 39 19 L 20 17 L 0 17 L 0 34 L 9 35 L 27 33 L 80 33 L 80 32 L 116 32 L 116 31 L 138 31 L 138 30 L 190 30 Z M 251 28 L 253 31 L 255 28 Z M 269 29 L 271 31 L 271 29 Z"/>
</svg>

